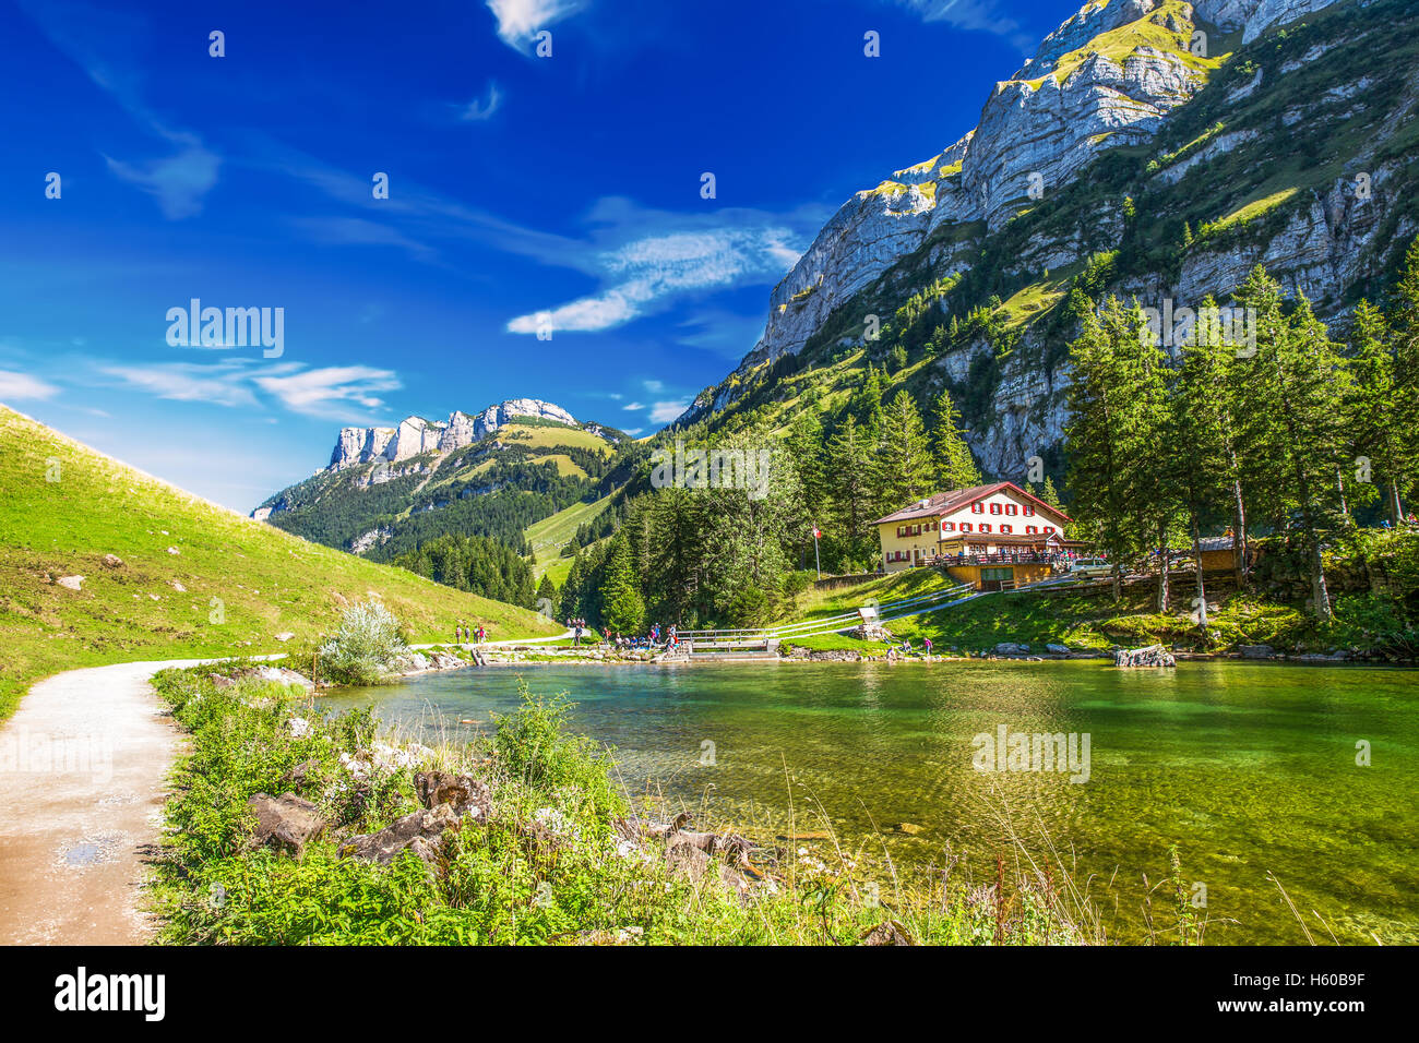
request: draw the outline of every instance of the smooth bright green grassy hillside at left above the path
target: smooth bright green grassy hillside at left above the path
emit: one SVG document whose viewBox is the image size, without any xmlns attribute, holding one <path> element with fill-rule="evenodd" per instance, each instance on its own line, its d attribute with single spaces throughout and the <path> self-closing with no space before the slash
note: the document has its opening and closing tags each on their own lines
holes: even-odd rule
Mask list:
<svg viewBox="0 0 1419 1043">
<path fill-rule="evenodd" d="M 0 406 L 0 718 L 48 674 L 281 651 L 380 597 L 414 640 L 455 619 L 552 633 L 532 612 L 375 565 L 209 504 Z M 121 565 L 105 565 L 116 555 Z M 81 589 L 55 580 L 84 576 Z"/>
</svg>

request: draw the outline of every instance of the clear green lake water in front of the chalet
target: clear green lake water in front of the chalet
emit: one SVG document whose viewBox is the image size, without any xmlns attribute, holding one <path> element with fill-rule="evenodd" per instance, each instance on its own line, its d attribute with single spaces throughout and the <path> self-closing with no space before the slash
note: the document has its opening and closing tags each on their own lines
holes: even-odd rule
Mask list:
<svg viewBox="0 0 1419 1043">
<path fill-rule="evenodd" d="M 1344 942 L 1372 942 L 1372 932 L 1419 942 L 1419 674 L 1410 671 L 528 666 L 429 674 L 324 704 L 375 705 L 386 721 L 460 738 L 518 705 L 519 677 L 576 700 L 576 728 L 614 746 L 630 792 L 695 809 L 707 802 L 711 822 L 783 823 L 792 810 L 800 829 L 822 829 L 805 826 L 806 810 L 822 805 L 846 844 L 938 864 L 949 844 L 962 859 L 956 871 L 978 877 L 993 873 L 1010 829 L 1036 846 L 1047 836 L 1077 878 L 1094 877 L 1120 938 L 1139 937 L 1142 874 L 1152 884 L 1166 877 L 1175 846 L 1185 878 L 1206 885 L 1209 941 L 1304 941 L 1271 871 L 1313 931 L 1314 908 Z M 468 718 L 482 724 L 458 724 Z M 976 771 L 972 738 L 999 725 L 1088 732 L 1088 782 Z M 1374 749 L 1368 768 L 1355 763 L 1359 739 Z M 714 766 L 701 763 L 705 741 Z"/>
</svg>

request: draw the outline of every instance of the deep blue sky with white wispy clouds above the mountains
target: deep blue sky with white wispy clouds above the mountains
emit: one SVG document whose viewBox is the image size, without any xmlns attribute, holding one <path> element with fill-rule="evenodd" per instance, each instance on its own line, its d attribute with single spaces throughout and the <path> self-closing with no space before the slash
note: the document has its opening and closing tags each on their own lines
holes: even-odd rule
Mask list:
<svg viewBox="0 0 1419 1043">
<path fill-rule="evenodd" d="M 0 3 L 0 402 L 241 511 L 343 424 L 538 397 L 650 433 L 1076 6 Z M 282 353 L 170 345 L 192 298 L 282 308 Z"/>
</svg>

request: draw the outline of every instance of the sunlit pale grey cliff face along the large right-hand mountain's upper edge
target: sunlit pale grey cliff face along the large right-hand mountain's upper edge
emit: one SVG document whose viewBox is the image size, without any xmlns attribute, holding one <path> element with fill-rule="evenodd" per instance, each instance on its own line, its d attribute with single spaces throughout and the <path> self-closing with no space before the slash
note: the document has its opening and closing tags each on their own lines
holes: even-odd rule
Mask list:
<svg viewBox="0 0 1419 1043">
<path fill-rule="evenodd" d="M 1012 79 L 996 84 L 975 131 L 854 194 L 775 287 L 763 336 L 741 369 L 799 351 L 834 308 L 928 236 L 975 221 L 999 228 L 1032 192 L 1071 182 L 1105 148 L 1152 136 L 1164 115 L 1203 82 L 1200 71 L 1147 45 L 1122 61 L 1094 54 L 1061 70 L 1060 60 L 1101 33 L 1149 17 L 1158 17 L 1185 53 L 1192 23 L 1162 16 L 1159 7 L 1161 0 L 1086 6 Z M 968 244 L 969 231 L 952 236 L 955 245 Z"/>
</svg>

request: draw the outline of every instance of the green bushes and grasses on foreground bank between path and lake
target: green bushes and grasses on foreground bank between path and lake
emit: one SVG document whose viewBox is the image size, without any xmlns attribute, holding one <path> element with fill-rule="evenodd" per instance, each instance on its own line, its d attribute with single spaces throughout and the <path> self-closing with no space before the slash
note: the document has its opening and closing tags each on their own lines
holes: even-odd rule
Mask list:
<svg viewBox="0 0 1419 1043">
<path fill-rule="evenodd" d="M 572 734 L 565 697 L 499 717 L 491 739 L 424 751 L 382 746 L 368 714 L 326 718 L 263 681 L 219 690 L 216 670 L 155 678 L 192 734 L 175 769 L 166 836 L 156 860 L 159 941 L 173 945 L 519 945 L 857 944 L 887 912 L 864 900 L 866 870 L 788 867 L 775 888 L 741 901 L 718 873 L 673 876 L 653 843 L 613 833 L 627 802 L 612 762 Z M 227 667 L 230 668 L 230 667 Z M 302 728 L 291 727 L 294 719 Z M 341 857 L 329 836 L 299 859 L 253 847 L 247 800 L 280 793 L 301 765 L 302 792 L 339 836 L 370 833 L 419 809 L 412 768 L 473 772 L 492 789 L 494 813 L 447 830 L 433 863 L 404 853 L 387 866 Z M 349 765 L 369 766 L 356 778 Z M 614 843 L 613 843 L 614 841 Z M 894 874 L 890 915 L 921 944 L 1103 941 L 1097 912 L 1066 907 L 1026 880 L 996 910 L 939 877 Z M 1063 878 L 1063 874 L 1061 874 Z"/>
</svg>

